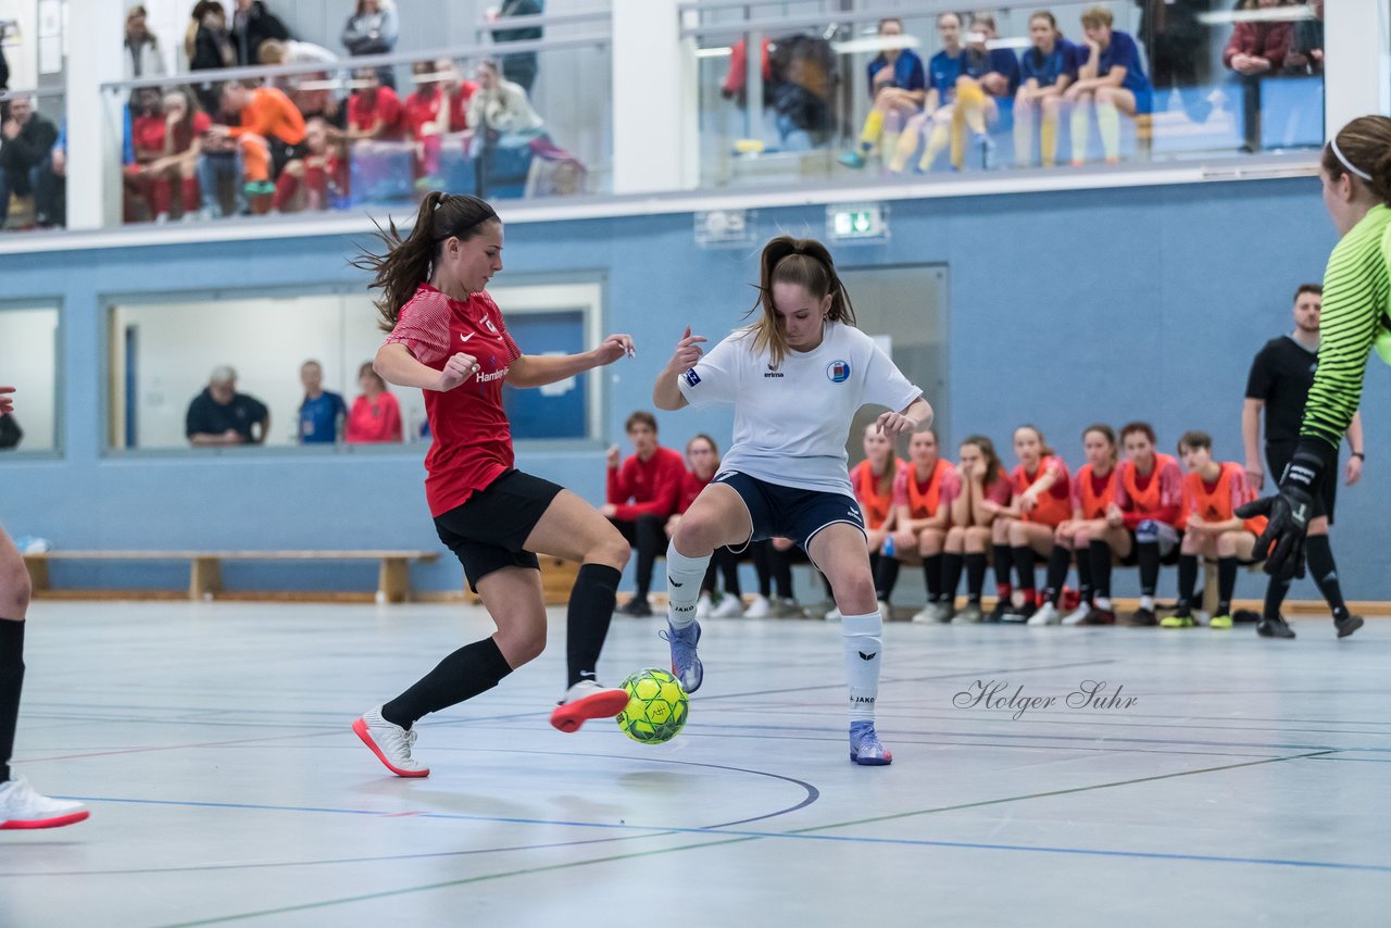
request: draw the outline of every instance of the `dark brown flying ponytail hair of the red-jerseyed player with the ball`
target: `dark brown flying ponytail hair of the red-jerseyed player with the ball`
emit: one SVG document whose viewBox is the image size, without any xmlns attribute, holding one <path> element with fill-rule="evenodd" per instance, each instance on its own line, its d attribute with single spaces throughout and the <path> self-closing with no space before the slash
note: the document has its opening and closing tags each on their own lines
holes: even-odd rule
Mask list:
<svg viewBox="0 0 1391 928">
<path fill-rule="evenodd" d="M 367 287 L 381 291 L 381 299 L 374 301 L 381 314 L 378 327 L 387 333 L 396 327 L 401 307 L 416 295 L 420 284 L 430 280 L 430 270 L 447 241 L 458 238 L 467 242 L 483 230 L 484 223 L 501 221 L 492 207 L 477 196 L 433 191 L 421 200 L 410 235 L 402 238 L 395 220 L 388 220 L 387 228 L 378 223 L 377 238 L 385 242 L 387 253 L 362 249 L 349 262 L 376 274 Z"/>
</svg>

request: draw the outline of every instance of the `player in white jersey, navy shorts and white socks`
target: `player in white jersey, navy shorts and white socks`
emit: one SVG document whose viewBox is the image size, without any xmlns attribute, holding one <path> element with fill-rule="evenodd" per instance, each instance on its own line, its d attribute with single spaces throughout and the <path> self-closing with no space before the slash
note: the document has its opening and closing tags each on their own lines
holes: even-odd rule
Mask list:
<svg viewBox="0 0 1391 928">
<path fill-rule="evenodd" d="M 826 575 L 842 615 L 850 678 L 850 760 L 883 765 L 874 704 L 883 618 L 875 601 L 864 516 L 846 470 L 846 434 L 865 403 L 889 437 L 932 423 L 932 406 L 855 328 L 826 246 L 779 237 L 759 259 L 758 319 L 708 355 L 690 327 L 657 378 L 659 409 L 733 403 L 734 442 L 682 518 L 666 550 L 672 672 L 700 689 L 696 601 L 715 548 L 787 537 Z"/>
</svg>

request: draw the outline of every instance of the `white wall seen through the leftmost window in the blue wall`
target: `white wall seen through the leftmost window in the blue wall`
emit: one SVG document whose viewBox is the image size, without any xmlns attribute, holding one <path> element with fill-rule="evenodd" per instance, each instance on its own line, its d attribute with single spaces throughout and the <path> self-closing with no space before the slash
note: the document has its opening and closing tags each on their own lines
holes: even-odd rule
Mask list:
<svg viewBox="0 0 1391 928">
<path fill-rule="evenodd" d="M 0 384 L 14 387 L 14 417 L 24 429 L 19 451 L 54 447 L 58 310 L 0 309 Z"/>
</svg>

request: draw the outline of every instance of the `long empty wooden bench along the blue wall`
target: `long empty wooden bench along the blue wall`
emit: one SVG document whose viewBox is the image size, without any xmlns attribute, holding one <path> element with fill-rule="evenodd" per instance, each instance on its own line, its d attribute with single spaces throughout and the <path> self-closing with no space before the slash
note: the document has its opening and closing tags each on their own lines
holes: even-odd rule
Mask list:
<svg viewBox="0 0 1391 928">
<path fill-rule="evenodd" d="M 46 551 L 25 554 L 24 565 L 35 594 L 53 593 L 50 561 L 188 561 L 191 600 L 210 600 L 223 591 L 223 561 L 378 561 L 377 601 L 410 598 L 410 562 L 434 561 L 435 551 Z"/>
</svg>

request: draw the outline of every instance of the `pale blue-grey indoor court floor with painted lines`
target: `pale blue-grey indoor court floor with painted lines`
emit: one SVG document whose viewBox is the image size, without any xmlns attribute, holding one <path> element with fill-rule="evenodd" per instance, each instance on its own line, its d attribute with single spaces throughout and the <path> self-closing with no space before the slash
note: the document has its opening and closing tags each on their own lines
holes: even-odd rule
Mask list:
<svg viewBox="0 0 1391 928">
<path fill-rule="evenodd" d="M 1385 619 L 1344 641 L 1308 618 L 1294 641 L 893 623 L 894 762 L 858 768 L 836 625 L 707 621 L 690 722 L 644 746 L 608 719 L 549 728 L 552 609 L 541 659 L 421 722 L 421 781 L 349 725 L 487 633 L 480 608 L 43 601 L 31 619 L 17 769 L 92 818 L 0 833 L 6 928 L 1391 918 Z M 615 618 L 605 682 L 665 665 L 659 627 Z M 1068 704 L 1100 683 L 1120 698 Z"/>
</svg>

